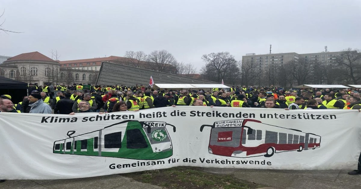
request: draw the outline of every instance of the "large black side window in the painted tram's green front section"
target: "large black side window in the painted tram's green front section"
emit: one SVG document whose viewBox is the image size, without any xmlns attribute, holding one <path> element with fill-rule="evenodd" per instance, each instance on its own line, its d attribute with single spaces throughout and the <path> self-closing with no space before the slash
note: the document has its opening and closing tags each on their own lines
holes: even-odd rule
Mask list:
<svg viewBox="0 0 361 189">
<path fill-rule="evenodd" d="M 138 149 L 148 147 L 143 133 L 139 129 L 127 130 L 127 148 Z"/>
</svg>

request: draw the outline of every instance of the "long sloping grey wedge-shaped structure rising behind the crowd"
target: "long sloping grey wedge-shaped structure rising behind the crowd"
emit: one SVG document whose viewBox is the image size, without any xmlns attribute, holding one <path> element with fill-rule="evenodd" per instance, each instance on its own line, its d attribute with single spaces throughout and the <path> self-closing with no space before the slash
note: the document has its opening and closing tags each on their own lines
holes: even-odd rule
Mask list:
<svg viewBox="0 0 361 189">
<path fill-rule="evenodd" d="M 151 78 L 151 76 L 153 77 L 155 83 L 191 83 L 192 85 L 193 83 L 219 84 L 213 81 L 200 80 L 108 62 L 101 63 L 96 83 L 98 85 L 148 85 L 149 78 Z"/>
</svg>

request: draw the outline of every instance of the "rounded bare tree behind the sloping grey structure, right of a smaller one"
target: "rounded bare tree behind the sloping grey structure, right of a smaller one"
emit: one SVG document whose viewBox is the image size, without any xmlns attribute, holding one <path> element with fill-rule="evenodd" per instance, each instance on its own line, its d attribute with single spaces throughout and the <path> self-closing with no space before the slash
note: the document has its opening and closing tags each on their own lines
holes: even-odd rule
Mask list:
<svg viewBox="0 0 361 189">
<path fill-rule="evenodd" d="M 152 70 L 165 73 L 177 74 L 178 62 L 175 57 L 166 50 L 152 51 L 148 55 L 148 61 Z"/>
</svg>

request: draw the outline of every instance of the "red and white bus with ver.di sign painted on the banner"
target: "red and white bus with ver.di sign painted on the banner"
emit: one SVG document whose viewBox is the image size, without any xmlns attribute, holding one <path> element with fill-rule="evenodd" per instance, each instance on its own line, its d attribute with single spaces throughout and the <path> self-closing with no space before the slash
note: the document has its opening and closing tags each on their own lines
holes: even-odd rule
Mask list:
<svg viewBox="0 0 361 189">
<path fill-rule="evenodd" d="M 321 136 L 301 130 L 264 124 L 253 119 L 217 121 L 210 126 L 210 154 L 248 158 L 284 151 L 303 151 L 320 147 Z"/>
</svg>

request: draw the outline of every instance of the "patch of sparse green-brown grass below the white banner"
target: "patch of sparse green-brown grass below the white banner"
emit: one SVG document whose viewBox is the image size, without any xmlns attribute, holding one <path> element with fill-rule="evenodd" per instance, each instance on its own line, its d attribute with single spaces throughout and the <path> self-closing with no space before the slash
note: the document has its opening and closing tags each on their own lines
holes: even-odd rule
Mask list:
<svg viewBox="0 0 361 189">
<path fill-rule="evenodd" d="M 232 175 L 205 172 L 198 167 L 173 167 L 121 175 L 164 188 L 248 189 L 265 187 L 254 182 L 237 179 Z"/>
</svg>

